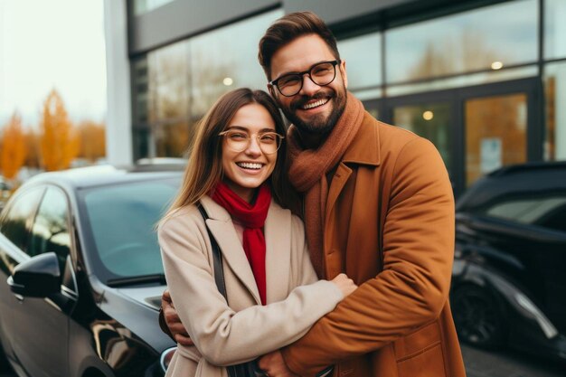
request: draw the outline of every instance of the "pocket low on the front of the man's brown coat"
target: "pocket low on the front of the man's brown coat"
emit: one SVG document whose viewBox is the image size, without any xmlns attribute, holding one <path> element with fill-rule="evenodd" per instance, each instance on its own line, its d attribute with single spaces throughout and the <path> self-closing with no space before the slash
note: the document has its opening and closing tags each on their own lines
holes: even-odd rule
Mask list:
<svg viewBox="0 0 566 377">
<path fill-rule="evenodd" d="M 399 377 L 444 377 L 444 353 L 438 321 L 393 344 Z"/>
</svg>

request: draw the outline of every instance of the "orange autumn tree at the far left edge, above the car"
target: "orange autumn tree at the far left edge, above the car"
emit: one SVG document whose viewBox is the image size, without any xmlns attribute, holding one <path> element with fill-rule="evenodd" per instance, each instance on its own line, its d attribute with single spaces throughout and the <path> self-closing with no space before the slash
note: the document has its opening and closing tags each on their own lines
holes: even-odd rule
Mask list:
<svg viewBox="0 0 566 377">
<path fill-rule="evenodd" d="M 2 143 L 2 173 L 7 179 L 14 179 L 24 165 L 26 155 L 22 117 L 14 112 L 4 127 Z"/>
</svg>

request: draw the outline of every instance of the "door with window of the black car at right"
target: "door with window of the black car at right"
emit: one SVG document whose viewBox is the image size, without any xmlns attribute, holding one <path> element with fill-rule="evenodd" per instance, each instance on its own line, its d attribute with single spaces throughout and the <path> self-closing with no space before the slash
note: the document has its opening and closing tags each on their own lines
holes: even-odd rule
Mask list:
<svg viewBox="0 0 566 377">
<path fill-rule="evenodd" d="M 521 282 L 566 334 L 566 192 L 541 185 L 487 207 L 488 216 L 508 221 L 499 229 L 505 233 L 489 239 L 496 249 L 522 260 Z"/>
</svg>

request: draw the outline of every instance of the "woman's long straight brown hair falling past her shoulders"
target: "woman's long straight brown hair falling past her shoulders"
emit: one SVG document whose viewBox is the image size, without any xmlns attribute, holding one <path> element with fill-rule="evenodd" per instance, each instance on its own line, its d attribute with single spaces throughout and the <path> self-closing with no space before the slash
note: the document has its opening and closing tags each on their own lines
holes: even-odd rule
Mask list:
<svg viewBox="0 0 566 377">
<path fill-rule="evenodd" d="M 276 132 L 286 135 L 287 130 L 278 106 L 265 91 L 241 88 L 224 94 L 197 126 L 183 184 L 165 218 L 181 207 L 197 203 L 222 180 L 222 137 L 218 134 L 230 124 L 241 107 L 251 103 L 266 108 L 273 118 Z M 288 182 L 286 139 L 283 139 L 278 149 L 277 162 L 268 180 L 273 198 L 279 205 L 297 208 L 297 193 Z"/>
</svg>

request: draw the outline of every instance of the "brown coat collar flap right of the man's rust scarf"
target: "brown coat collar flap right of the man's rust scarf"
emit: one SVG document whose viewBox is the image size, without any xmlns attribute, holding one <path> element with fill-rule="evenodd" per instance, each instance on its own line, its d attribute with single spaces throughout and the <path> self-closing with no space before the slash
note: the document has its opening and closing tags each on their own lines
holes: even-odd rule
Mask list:
<svg viewBox="0 0 566 377">
<path fill-rule="evenodd" d="M 342 158 L 343 163 L 361 165 L 381 164 L 380 140 L 378 122 L 367 111 L 363 114 L 362 126 L 354 137 L 352 144 L 346 149 Z"/>
</svg>

